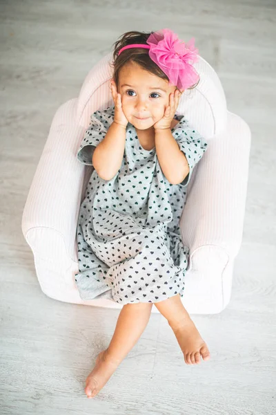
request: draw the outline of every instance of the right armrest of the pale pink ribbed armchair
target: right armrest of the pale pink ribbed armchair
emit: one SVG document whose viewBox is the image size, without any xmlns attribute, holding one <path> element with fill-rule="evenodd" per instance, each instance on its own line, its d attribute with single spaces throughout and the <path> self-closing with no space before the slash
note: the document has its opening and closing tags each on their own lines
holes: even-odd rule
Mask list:
<svg viewBox="0 0 276 415">
<path fill-rule="evenodd" d="M 190 248 L 191 260 L 203 246 L 223 248 L 230 258 L 239 252 L 250 142 L 248 124 L 228 111 L 226 129 L 209 140 L 208 149 L 187 188 L 180 228 L 184 245 Z"/>
</svg>

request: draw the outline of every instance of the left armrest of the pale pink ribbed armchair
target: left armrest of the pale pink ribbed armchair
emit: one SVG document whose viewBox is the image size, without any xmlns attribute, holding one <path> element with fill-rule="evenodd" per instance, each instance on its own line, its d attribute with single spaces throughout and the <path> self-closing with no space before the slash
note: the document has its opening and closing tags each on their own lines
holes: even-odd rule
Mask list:
<svg viewBox="0 0 276 415">
<path fill-rule="evenodd" d="M 77 124 L 77 98 L 61 105 L 50 127 L 37 170 L 32 180 L 22 216 L 22 232 L 40 257 L 57 260 L 55 243 L 46 243 L 41 232 L 61 237 L 68 259 L 75 259 L 77 219 L 83 191 L 85 166 L 76 154 L 84 127 Z M 38 232 L 33 232 L 34 228 Z M 43 228 L 43 229 L 42 229 Z M 59 235 L 59 237 L 58 237 Z M 28 239 L 30 236 L 30 239 Z"/>
</svg>

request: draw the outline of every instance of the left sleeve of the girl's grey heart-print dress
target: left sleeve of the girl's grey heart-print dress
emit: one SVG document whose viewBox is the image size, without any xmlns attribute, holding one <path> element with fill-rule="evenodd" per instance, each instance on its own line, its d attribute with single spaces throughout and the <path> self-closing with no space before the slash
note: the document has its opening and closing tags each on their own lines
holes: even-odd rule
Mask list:
<svg viewBox="0 0 276 415">
<path fill-rule="evenodd" d="M 113 119 L 114 111 L 110 107 L 103 111 L 95 111 L 95 113 L 92 113 L 89 127 L 84 133 L 81 145 L 77 151 L 77 159 L 81 163 L 92 166 L 94 150 L 106 136 Z"/>
</svg>

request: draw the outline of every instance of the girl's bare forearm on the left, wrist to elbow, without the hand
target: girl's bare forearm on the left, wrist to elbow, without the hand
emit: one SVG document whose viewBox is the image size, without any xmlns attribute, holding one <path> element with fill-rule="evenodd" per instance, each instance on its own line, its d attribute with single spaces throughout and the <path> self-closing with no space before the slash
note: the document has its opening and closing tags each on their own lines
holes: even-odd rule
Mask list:
<svg viewBox="0 0 276 415">
<path fill-rule="evenodd" d="M 111 180 L 121 167 L 126 144 L 126 127 L 112 122 L 105 138 L 92 155 L 92 165 L 103 180 Z"/>
</svg>

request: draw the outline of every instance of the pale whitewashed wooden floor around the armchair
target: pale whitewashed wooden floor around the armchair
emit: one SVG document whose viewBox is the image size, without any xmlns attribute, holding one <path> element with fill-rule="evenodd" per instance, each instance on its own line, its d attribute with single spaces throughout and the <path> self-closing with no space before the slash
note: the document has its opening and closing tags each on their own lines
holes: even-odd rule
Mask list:
<svg viewBox="0 0 276 415">
<path fill-rule="evenodd" d="M 119 310 L 41 292 L 21 216 L 52 117 L 128 30 L 195 36 L 228 109 L 252 130 L 244 237 L 230 305 L 192 316 L 211 360 L 188 366 L 153 314 L 95 398 L 84 394 Z M 276 1 L 6 0 L 0 3 L 1 415 L 276 413 Z"/>
</svg>

